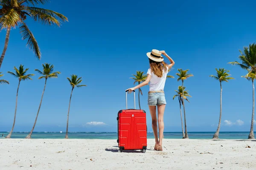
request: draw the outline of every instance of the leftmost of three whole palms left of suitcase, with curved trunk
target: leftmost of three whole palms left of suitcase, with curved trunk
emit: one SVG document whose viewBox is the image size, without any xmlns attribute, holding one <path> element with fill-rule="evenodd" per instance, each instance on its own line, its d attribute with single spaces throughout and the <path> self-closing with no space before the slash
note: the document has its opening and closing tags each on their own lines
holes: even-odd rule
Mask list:
<svg viewBox="0 0 256 170">
<path fill-rule="evenodd" d="M 16 106 L 15 106 L 15 112 L 14 112 L 14 121 L 13 121 L 13 125 L 12 125 L 12 130 L 10 131 L 10 133 L 6 136 L 6 138 L 11 138 L 12 136 L 12 131 L 14 129 L 14 125 L 15 125 L 15 119 L 16 119 L 16 111 L 17 111 L 17 102 L 18 102 L 18 92 L 19 92 L 19 87 L 20 87 L 20 82 L 21 80 L 27 80 L 30 79 L 32 80 L 32 76 L 35 76 L 35 74 L 26 74 L 26 72 L 29 70 L 29 68 L 24 69 L 23 68 L 24 65 L 20 65 L 19 69 L 17 69 L 16 67 L 14 67 L 14 70 L 16 72 L 10 72 L 8 71 L 9 74 L 12 74 L 14 77 L 19 79 L 19 84 L 18 84 L 18 88 L 17 88 L 17 94 L 16 94 Z"/>
</svg>

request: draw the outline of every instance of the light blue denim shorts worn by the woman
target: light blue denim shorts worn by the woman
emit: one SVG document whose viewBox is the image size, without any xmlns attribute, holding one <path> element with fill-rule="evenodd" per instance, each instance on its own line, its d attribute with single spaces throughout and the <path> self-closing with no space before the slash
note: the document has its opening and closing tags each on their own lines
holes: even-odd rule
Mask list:
<svg viewBox="0 0 256 170">
<path fill-rule="evenodd" d="M 166 99 L 163 92 L 161 93 L 150 93 L 148 94 L 148 105 L 166 105 Z"/>
</svg>

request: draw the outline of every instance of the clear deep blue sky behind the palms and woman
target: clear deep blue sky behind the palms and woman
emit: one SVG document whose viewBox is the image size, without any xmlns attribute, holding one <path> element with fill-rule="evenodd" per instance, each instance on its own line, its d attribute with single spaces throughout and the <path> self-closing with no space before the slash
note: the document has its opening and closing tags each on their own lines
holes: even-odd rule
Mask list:
<svg viewBox="0 0 256 170">
<path fill-rule="evenodd" d="M 87 87 L 73 91 L 69 131 L 116 131 L 117 112 L 125 109 L 125 89 L 133 87 L 129 77 L 136 71 L 146 73 L 146 52 L 151 49 L 165 50 L 174 59 L 174 70 L 169 75 L 175 76 L 177 68 L 194 74 L 184 82 L 192 95 L 185 105 L 188 131 L 217 128 L 220 87 L 218 81 L 209 77 L 215 74 L 215 68 L 230 70 L 235 78 L 223 83 L 221 131 L 249 131 L 252 85 L 241 78 L 246 71 L 227 62 L 237 60 L 239 49 L 256 42 L 254 6 L 253 0 L 84 0 L 79 4 L 54 0 L 44 8 L 68 17 L 69 22 L 61 28 L 26 20 L 40 45 L 40 61 L 26 48 L 19 29 L 11 30 L 0 70 L 10 82 L 0 85 L 0 131 L 11 130 L 18 84 L 6 72 L 23 64 L 29 68 L 28 73 L 35 74 L 32 81 L 21 82 L 18 96 L 15 131 L 29 131 L 44 88 L 44 80 L 38 80 L 34 69 L 42 69 L 44 62 L 55 65 L 55 71 L 61 74 L 47 82 L 35 131 L 65 131 L 71 92 L 67 77 L 71 74 L 82 77 Z M 5 34 L 6 30 L 0 32 L 0 47 Z M 165 131 L 181 131 L 178 101 L 172 100 L 178 85 L 181 82 L 177 82 L 177 76 L 166 81 Z M 152 131 L 148 89 L 142 88 L 140 103 L 147 112 L 148 131 Z M 128 99 L 132 108 L 132 95 Z"/>
</svg>

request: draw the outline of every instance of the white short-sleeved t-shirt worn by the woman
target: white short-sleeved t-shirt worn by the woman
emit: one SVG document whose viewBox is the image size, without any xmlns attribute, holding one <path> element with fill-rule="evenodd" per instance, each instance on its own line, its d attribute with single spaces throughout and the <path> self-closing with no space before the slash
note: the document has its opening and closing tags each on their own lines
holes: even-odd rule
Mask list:
<svg viewBox="0 0 256 170">
<path fill-rule="evenodd" d="M 155 75 L 153 71 L 151 71 L 151 68 L 148 68 L 147 74 L 151 75 L 151 79 L 149 82 L 149 91 L 163 91 L 166 77 L 168 74 L 168 69 L 169 68 L 167 67 L 166 72 L 163 70 L 163 77 L 157 77 L 157 75 Z"/>
</svg>

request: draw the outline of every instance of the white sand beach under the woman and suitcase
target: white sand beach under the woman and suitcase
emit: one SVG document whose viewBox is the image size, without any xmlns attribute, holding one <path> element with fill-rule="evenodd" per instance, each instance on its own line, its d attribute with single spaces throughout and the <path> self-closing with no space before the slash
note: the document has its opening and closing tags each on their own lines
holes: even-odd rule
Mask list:
<svg viewBox="0 0 256 170">
<path fill-rule="evenodd" d="M 146 153 L 118 153 L 116 140 L 0 139 L 0 170 L 256 170 L 256 140 L 164 139 L 163 146 L 152 150 L 148 139 Z"/>
</svg>

